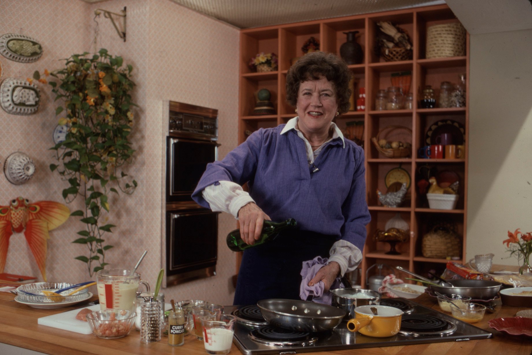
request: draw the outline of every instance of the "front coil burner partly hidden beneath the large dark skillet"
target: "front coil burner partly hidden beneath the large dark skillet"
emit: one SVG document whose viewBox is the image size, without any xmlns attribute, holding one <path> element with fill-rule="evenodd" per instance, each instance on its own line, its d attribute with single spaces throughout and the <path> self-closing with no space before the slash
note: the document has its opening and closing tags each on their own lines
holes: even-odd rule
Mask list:
<svg viewBox="0 0 532 355">
<path fill-rule="evenodd" d="M 276 346 L 307 346 L 318 340 L 318 337 L 308 332 L 293 331 L 292 329 L 279 328 L 272 325 L 253 329 L 248 336 L 257 343 Z"/>
</svg>

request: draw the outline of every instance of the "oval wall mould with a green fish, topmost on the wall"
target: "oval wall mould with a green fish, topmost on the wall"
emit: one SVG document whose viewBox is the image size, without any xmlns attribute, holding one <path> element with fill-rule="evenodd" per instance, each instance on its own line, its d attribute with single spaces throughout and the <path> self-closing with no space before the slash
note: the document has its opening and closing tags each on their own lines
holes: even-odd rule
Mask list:
<svg viewBox="0 0 532 355">
<path fill-rule="evenodd" d="M 0 36 L 0 54 L 21 63 L 33 63 L 43 55 L 43 47 L 37 40 L 17 34 Z"/>
</svg>

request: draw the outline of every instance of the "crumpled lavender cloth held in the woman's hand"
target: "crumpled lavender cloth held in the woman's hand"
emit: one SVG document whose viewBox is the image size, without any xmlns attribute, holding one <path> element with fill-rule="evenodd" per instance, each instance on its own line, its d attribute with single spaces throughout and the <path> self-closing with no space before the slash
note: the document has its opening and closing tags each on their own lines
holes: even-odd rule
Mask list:
<svg viewBox="0 0 532 355">
<path fill-rule="evenodd" d="M 312 296 L 312 302 L 331 304 L 332 294 L 330 291 L 323 293 L 325 289 L 325 283 L 323 281 L 314 284 L 314 286 L 309 286 L 309 281 L 312 280 L 319 269 L 327 265 L 327 260 L 327 258 L 315 257 L 312 260 L 303 261 L 303 268 L 301 269 L 303 280 L 300 286 L 300 297 L 303 301 L 306 301 L 309 296 Z M 344 287 L 344 285 L 340 282 L 340 278 L 337 277 L 334 283 L 332 283 L 331 289 L 341 287 Z"/>
</svg>

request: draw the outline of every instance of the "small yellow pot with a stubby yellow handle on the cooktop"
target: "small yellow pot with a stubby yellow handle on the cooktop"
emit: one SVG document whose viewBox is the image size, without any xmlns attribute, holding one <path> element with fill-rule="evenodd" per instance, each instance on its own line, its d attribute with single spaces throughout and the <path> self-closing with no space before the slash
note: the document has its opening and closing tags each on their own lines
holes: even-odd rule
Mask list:
<svg viewBox="0 0 532 355">
<path fill-rule="evenodd" d="M 377 309 L 374 315 L 371 308 Z M 367 336 L 393 336 L 401 328 L 403 311 L 388 306 L 360 306 L 355 308 L 355 318 L 347 322 L 347 329 Z"/>
</svg>

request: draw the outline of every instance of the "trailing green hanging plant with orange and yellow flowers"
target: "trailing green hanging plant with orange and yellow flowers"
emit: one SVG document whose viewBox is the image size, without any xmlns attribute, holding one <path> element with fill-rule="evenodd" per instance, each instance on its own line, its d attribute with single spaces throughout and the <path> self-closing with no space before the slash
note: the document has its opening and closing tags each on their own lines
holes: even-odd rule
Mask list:
<svg viewBox="0 0 532 355">
<path fill-rule="evenodd" d="M 68 127 L 65 141 L 51 148 L 59 163 L 50 164 L 50 170 L 68 181 L 69 187 L 63 189 L 67 203 L 78 196 L 84 199 L 85 209 L 71 213 L 86 225 L 73 243 L 87 246 L 88 255 L 75 259 L 87 263 L 90 276 L 108 265 L 105 252 L 113 247 L 104 239 L 115 227 L 105 222 L 110 211 L 109 194 L 119 194 L 119 190 L 131 194 L 137 187 L 137 182 L 122 171 L 135 152 L 129 134 L 134 118 L 131 109 L 137 106 L 130 95 L 135 86 L 130 79 L 133 68 L 122 64 L 122 57 L 102 48 L 94 55 L 70 56 L 62 69 L 44 71 L 45 76 L 57 79 L 48 84 L 55 100 L 63 102 L 55 111 L 61 117 L 59 124 Z M 47 82 L 38 71 L 34 79 Z"/>
</svg>

